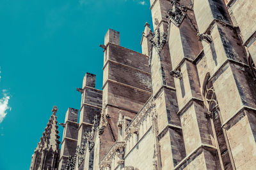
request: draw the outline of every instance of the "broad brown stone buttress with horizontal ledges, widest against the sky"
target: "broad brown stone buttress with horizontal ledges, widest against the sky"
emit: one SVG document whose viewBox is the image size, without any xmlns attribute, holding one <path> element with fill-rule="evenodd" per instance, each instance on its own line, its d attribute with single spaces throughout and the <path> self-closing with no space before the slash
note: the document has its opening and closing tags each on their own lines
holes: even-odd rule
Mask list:
<svg viewBox="0 0 256 170">
<path fill-rule="evenodd" d="M 152 94 L 148 56 L 119 46 L 119 36 L 114 35 L 119 32 L 109 29 L 104 41 L 102 105 L 108 122 L 100 135 L 99 160 L 96 162 L 100 162 L 118 138 L 118 111 L 133 118 Z"/>
</svg>

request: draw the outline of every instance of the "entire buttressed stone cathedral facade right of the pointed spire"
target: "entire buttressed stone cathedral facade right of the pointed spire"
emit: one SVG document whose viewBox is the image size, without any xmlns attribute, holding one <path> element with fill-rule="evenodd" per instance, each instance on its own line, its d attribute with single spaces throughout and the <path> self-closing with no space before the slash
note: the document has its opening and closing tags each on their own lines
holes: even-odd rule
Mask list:
<svg viewBox="0 0 256 170">
<path fill-rule="evenodd" d="M 37 149 L 31 169 L 255 169 L 255 6 L 150 0 L 142 53 L 109 29 L 102 91 L 86 73 L 79 123 L 69 108 L 54 166 Z"/>
</svg>

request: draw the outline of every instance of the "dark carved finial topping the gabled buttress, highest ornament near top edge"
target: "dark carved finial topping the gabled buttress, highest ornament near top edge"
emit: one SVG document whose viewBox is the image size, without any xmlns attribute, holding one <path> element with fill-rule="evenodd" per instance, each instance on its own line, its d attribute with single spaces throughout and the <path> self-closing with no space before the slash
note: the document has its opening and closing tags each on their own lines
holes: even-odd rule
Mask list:
<svg viewBox="0 0 256 170">
<path fill-rule="evenodd" d="M 185 13 L 184 13 L 184 11 L 186 11 L 185 9 L 186 8 L 178 5 L 175 1 L 175 3 L 173 3 L 172 9 L 168 10 L 168 15 L 166 15 L 166 18 L 170 17 L 170 20 L 172 21 L 172 23 L 177 27 L 179 27 L 185 17 Z"/>
</svg>

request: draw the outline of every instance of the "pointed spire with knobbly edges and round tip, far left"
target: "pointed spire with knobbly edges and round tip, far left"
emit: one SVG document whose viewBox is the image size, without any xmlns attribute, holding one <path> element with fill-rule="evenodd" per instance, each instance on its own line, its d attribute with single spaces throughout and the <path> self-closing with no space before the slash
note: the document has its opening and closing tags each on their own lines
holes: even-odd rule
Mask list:
<svg viewBox="0 0 256 170">
<path fill-rule="evenodd" d="M 30 170 L 55 169 L 58 167 L 58 159 L 60 155 L 60 141 L 58 136 L 58 122 L 56 112 L 58 108 L 52 108 L 52 115 L 45 127 L 43 136 L 35 148 L 32 155 Z"/>
</svg>

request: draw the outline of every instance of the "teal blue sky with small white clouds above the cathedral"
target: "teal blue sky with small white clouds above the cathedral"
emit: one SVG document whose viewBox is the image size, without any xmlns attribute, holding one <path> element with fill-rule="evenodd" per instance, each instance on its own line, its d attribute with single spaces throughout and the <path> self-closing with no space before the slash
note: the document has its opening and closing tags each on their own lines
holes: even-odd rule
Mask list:
<svg viewBox="0 0 256 170">
<path fill-rule="evenodd" d="M 102 87 L 102 48 L 109 28 L 120 45 L 141 52 L 149 0 L 0 0 L 0 169 L 27 170 L 58 106 L 80 107 L 86 72 Z M 60 136 L 63 128 L 60 126 Z"/>
</svg>

